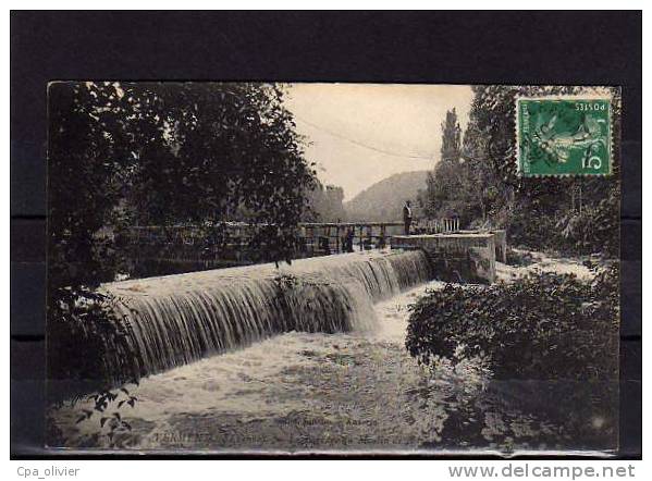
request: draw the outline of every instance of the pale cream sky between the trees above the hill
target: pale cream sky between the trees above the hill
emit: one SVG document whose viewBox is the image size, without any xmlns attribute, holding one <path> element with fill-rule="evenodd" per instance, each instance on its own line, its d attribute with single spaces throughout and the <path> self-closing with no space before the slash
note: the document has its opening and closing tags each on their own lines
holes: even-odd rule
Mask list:
<svg viewBox="0 0 652 481">
<path fill-rule="evenodd" d="M 471 97 L 457 85 L 293 84 L 285 104 L 320 181 L 350 200 L 390 175 L 432 169 L 446 111 L 464 130 Z"/>
</svg>

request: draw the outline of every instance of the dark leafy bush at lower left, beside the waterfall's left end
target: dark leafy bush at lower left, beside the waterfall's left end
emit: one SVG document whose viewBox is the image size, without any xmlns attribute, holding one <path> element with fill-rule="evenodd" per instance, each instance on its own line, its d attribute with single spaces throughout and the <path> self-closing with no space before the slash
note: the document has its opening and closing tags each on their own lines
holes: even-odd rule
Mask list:
<svg viewBox="0 0 652 481">
<path fill-rule="evenodd" d="M 59 296 L 48 312 L 48 400 L 52 407 L 60 407 L 93 399 L 91 405 L 85 404 L 89 408 L 79 408 L 76 423 L 97 419 L 100 432 L 111 446 L 116 446 L 116 434 L 132 430 L 120 408 L 134 407 L 137 402 L 125 387 L 138 384 L 139 379 L 139 373 L 130 369 L 126 338 L 131 325 L 115 316 L 113 306 L 120 299 L 113 296 L 72 288 L 62 292 L 65 296 Z M 121 366 L 108 369 L 108 359 Z M 110 374 L 115 371 L 124 375 Z M 65 445 L 65 436 L 53 418 L 47 417 L 46 428 L 49 445 Z"/>
</svg>

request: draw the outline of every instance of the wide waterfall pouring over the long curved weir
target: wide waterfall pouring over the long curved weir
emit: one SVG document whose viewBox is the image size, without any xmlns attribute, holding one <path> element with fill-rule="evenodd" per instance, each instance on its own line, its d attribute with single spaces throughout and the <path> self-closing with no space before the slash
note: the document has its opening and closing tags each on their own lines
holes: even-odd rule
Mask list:
<svg viewBox="0 0 652 481">
<path fill-rule="evenodd" d="M 372 304 L 431 279 L 423 252 L 359 252 L 115 282 L 125 346 L 104 375 L 139 378 L 274 334 L 370 329 Z M 111 355 L 110 355 L 111 356 Z"/>
</svg>

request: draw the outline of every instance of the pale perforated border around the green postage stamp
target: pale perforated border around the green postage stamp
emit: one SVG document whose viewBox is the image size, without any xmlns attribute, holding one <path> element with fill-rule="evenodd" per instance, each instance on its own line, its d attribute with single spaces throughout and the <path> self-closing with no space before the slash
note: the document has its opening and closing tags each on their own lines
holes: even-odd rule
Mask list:
<svg viewBox="0 0 652 481">
<path fill-rule="evenodd" d="M 615 96 L 608 90 L 608 87 L 593 87 L 601 91 L 578 94 L 578 95 L 538 95 L 516 96 L 514 99 L 514 138 L 516 141 L 516 174 L 524 178 L 541 178 L 541 177 L 604 177 L 613 174 L 614 166 L 614 99 Z M 518 102 L 520 100 L 605 100 L 608 102 L 608 171 L 603 173 L 561 173 L 561 174 L 530 174 L 521 170 L 521 158 L 520 158 L 520 111 Z"/>
</svg>

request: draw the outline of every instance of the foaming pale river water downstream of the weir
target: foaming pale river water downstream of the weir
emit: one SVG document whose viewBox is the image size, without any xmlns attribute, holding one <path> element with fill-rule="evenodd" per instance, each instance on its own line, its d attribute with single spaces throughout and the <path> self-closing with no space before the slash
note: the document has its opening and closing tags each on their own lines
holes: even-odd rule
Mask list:
<svg viewBox="0 0 652 481">
<path fill-rule="evenodd" d="M 591 275 L 579 262 L 543 256 L 497 271 L 515 280 L 534 269 Z M 98 414 L 75 423 L 87 406 L 59 409 L 56 423 L 65 446 L 91 448 L 505 453 L 611 445 L 614 414 L 591 411 L 591 398 L 610 390 L 497 382 L 478 361 L 442 363 L 434 374 L 417 366 L 404 347 L 408 306 L 443 285 L 377 304 L 372 332 L 291 332 L 127 386 L 137 402 L 120 412 L 132 429 L 112 440 Z M 582 409 L 590 422 L 579 439 L 568 412 Z"/>
</svg>

